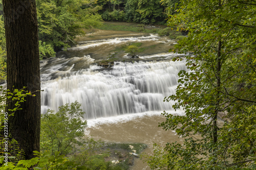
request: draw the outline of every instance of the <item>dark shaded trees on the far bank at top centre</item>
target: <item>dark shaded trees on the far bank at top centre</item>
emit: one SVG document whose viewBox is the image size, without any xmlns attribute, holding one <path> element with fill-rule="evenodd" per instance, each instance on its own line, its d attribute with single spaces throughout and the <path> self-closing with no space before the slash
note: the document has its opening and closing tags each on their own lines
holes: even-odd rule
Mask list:
<svg viewBox="0 0 256 170">
<path fill-rule="evenodd" d="M 166 3 L 160 0 L 100 0 L 100 14 L 104 20 L 118 20 L 138 23 L 164 23 Z"/>
</svg>

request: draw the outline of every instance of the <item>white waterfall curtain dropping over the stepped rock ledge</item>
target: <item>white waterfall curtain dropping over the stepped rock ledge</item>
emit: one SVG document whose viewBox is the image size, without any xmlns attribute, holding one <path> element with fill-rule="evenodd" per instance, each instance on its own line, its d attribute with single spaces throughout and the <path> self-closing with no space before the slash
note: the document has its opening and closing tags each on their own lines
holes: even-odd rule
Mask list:
<svg viewBox="0 0 256 170">
<path fill-rule="evenodd" d="M 86 119 L 172 110 L 173 103 L 163 99 L 175 94 L 180 70 L 186 70 L 184 61 L 140 61 L 115 62 L 113 69 L 101 71 L 91 65 L 53 80 L 42 74 L 41 111 L 74 101 L 82 104 Z"/>
</svg>

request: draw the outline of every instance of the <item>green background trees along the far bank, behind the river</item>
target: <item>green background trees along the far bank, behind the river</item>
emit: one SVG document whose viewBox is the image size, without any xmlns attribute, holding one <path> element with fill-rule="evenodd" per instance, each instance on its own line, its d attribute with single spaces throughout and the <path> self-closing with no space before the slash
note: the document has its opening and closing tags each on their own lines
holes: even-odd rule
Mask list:
<svg viewBox="0 0 256 170">
<path fill-rule="evenodd" d="M 167 11 L 174 11 L 177 2 L 179 0 L 36 0 L 40 59 L 54 57 L 57 51 L 74 45 L 75 38 L 84 34 L 83 29 L 101 26 L 102 19 L 165 24 Z M 0 3 L 0 45 L 5 48 L 2 14 Z"/>
</svg>

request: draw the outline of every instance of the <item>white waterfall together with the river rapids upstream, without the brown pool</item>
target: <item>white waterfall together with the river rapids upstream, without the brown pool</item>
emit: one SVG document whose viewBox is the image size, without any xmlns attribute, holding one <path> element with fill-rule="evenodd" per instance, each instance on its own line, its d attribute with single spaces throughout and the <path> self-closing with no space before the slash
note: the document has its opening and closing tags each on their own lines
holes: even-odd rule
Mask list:
<svg viewBox="0 0 256 170">
<path fill-rule="evenodd" d="M 90 37 L 82 37 L 76 47 L 41 62 L 42 113 L 47 109 L 57 111 L 59 106 L 74 101 L 82 104 L 86 119 L 172 110 L 172 103 L 163 99 L 175 93 L 178 72 L 186 69 L 185 62 L 171 61 L 178 55 L 168 53 L 175 41 L 144 33 L 109 31 Z M 135 62 L 120 52 L 134 42 L 146 49 Z M 107 59 L 113 51 L 118 51 L 120 61 L 130 62 L 115 62 L 106 69 L 93 64 Z"/>
</svg>

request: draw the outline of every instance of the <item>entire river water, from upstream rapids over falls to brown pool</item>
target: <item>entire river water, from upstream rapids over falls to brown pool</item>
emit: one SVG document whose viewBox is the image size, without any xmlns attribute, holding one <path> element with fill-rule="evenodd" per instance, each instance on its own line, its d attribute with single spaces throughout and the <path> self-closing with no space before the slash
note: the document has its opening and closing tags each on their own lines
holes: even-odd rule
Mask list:
<svg viewBox="0 0 256 170">
<path fill-rule="evenodd" d="M 141 42 L 144 51 L 131 59 L 120 49 Z M 57 110 L 66 103 L 82 104 L 88 120 L 87 136 L 109 142 L 145 143 L 147 153 L 153 143 L 178 141 L 173 132 L 158 127 L 161 112 L 182 114 L 163 102 L 175 94 L 178 72 L 185 62 L 173 62 L 168 53 L 175 41 L 157 34 L 98 30 L 79 38 L 77 46 L 59 52 L 56 58 L 41 62 L 41 111 Z M 96 62 L 119 58 L 111 68 Z M 148 169 L 136 159 L 131 169 Z"/>
</svg>

